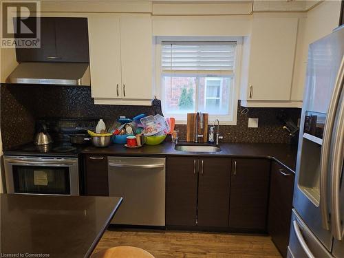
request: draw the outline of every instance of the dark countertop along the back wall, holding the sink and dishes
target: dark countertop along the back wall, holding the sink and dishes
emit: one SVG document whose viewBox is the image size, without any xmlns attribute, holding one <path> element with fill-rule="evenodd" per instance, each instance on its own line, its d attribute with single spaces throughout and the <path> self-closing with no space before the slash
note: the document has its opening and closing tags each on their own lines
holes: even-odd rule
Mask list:
<svg viewBox="0 0 344 258">
<path fill-rule="evenodd" d="M 180 142 L 182 143 L 182 142 Z M 128 149 L 121 144 L 112 144 L 106 148 L 87 147 L 83 153 L 103 155 L 132 155 L 132 156 L 203 156 L 203 157 L 229 157 L 229 158 L 270 158 L 286 169 L 295 171 L 297 160 L 297 146 L 290 144 L 270 143 L 222 143 L 219 144 L 222 151 L 216 153 L 184 152 L 176 151 L 171 142 L 163 142 L 159 145 L 144 145 L 138 149 Z"/>
</svg>

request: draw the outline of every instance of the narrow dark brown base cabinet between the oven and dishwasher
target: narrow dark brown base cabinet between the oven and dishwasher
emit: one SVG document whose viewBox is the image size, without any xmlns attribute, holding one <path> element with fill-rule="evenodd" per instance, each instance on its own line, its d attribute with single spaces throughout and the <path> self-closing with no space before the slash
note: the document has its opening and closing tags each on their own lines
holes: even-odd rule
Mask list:
<svg viewBox="0 0 344 258">
<path fill-rule="evenodd" d="M 85 155 L 85 195 L 109 196 L 107 156 Z"/>
</svg>

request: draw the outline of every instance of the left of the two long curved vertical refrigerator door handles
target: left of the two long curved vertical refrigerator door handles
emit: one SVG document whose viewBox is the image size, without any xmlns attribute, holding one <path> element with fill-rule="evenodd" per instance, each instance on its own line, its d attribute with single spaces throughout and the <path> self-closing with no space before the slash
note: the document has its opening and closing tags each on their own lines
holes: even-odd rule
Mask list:
<svg viewBox="0 0 344 258">
<path fill-rule="evenodd" d="M 320 209 L 321 209 L 321 222 L 325 230 L 330 230 L 328 204 L 327 204 L 327 178 L 328 165 L 330 156 L 330 146 L 332 138 L 332 130 L 334 127 L 334 120 L 336 118 L 336 109 L 338 106 L 339 98 L 341 96 L 341 78 L 343 77 L 344 58 L 342 58 L 341 66 L 339 67 L 338 75 L 336 78 L 336 85 L 331 97 L 330 107 L 327 111 L 327 118 L 325 121 L 325 129 L 323 133 L 323 144 L 321 148 L 320 157 Z"/>
</svg>

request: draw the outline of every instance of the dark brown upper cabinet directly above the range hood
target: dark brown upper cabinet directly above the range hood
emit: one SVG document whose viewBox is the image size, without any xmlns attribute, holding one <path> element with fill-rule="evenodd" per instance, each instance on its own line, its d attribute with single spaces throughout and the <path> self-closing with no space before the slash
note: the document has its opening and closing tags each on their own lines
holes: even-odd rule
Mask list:
<svg viewBox="0 0 344 258">
<path fill-rule="evenodd" d="M 19 63 L 89 63 L 87 18 L 41 17 L 41 48 L 17 48 L 16 54 Z"/>
</svg>

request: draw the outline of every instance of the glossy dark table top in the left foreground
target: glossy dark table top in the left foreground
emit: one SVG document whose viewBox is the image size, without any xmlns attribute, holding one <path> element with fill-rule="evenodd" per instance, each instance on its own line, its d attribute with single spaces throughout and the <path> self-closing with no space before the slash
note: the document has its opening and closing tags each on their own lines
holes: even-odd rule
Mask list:
<svg viewBox="0 0 344 258">
<path fill-rule="evenodd" d="M 1 194 L 1 257 L 89 257 L 121 202 L 122 197 Z"/>
</svg>

